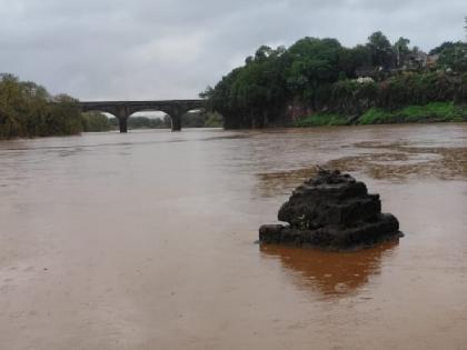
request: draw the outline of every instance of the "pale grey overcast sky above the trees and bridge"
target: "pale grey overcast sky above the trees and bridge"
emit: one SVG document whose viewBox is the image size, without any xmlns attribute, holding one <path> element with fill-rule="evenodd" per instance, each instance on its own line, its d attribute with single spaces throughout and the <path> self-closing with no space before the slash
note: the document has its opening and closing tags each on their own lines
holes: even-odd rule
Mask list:
<svg viewBox="0 0 467 350">
<path fill-rule="evenodd" d="M 464 40 L 466 0 L 0 0 L 0 71 L 81 100 L 197 98 L 261 44 Z"/>
</svg>

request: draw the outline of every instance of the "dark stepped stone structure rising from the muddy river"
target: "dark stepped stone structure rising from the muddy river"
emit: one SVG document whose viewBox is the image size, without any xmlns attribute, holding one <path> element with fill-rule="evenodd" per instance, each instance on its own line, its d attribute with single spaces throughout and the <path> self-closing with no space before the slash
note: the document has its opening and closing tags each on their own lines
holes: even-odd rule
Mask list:
<svg viewBox="0 0 467 350">
<path fill-rule="evenodd" d="M 261 243 L 352 250 L 398 240 L 404 234 L 390 213 L 381 213 L 379 194 L 368 194 L 350 174 L 320 169 L 298 187 L 279 210 L 284 224 L 259 229 Z"/>
</svg>

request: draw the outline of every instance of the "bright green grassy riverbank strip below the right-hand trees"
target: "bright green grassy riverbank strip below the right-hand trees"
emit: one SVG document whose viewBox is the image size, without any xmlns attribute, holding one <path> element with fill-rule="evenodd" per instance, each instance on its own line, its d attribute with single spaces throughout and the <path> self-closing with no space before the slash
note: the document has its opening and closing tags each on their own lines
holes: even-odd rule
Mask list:
<svg viewBox="0 0 467 350">
<path fill-rule="evenodd" d="M 463 122 L 467 121 L 467 108 L 453 102 L 430 102 L 425 106 L 408 106 L 397 110 L 370 108 L 360 116 L 321 112 L 310 114 L 295 127 L 366 126 L 413 122 Z"/>
</svg>

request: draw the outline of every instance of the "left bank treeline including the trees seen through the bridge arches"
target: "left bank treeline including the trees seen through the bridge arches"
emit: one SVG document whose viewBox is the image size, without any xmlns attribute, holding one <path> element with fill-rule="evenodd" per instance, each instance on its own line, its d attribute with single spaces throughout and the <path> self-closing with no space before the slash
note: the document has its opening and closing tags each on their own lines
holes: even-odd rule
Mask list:
<svg viewBox="0 0 467 350">
<path fill-rule="evenodd" d="M 206 111 L 189 112 L 182 118 L 183 128 L 221 127 L 220 114 Z M 133 116 L 129 129 L 170 128 L 169 116 L 163 119 Z M 0 74 L 0 139 L 68 136 L 118 129 L 118 120 L 101 112 L 82 113 L 78 100 L 51 96 L 46 88 L 20 81 L 8 73 Z"/>
</svg>

